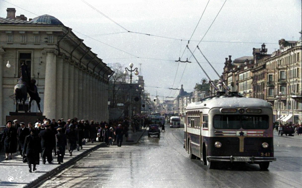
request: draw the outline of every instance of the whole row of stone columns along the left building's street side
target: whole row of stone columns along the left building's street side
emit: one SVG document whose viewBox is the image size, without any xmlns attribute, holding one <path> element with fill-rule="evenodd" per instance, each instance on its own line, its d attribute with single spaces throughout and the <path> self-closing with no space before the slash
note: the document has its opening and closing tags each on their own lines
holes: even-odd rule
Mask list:
<svg viewBox="0 0 302 188">
<path fill-rule="evenodd" d="M 57 56 L 56 50 L 43 50 L 46 75 L 43 114 L 47 118 L 108 121 L 108 85 L 92 71 L 74 61 Z"/>
</svg>

